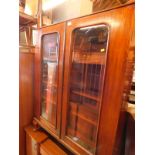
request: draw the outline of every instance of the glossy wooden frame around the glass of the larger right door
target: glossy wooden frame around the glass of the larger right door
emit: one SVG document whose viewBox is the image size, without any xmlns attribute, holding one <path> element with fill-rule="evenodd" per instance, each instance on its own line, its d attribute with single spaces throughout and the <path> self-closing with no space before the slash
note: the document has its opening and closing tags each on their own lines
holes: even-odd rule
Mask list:
<svg viewBox="0 0 155 155">
<path fill-rule="evenodd" d="M 66 120 L 68 111 L 68 85 L 71 66 L 71 34 L 75 28 L 106 24 L 110 27 L 109 48 L 103 88 L 100 122 L 98 127 L 97 154 L 111 155 L 119 120 L 123 98 L 123 80 L 125 76 L 125 61 L 134 29 L 134 5 L 104 11 L 94 15 L 73 19 L 67 22 L 65 68 L 63 85 L 63 107 L 61 138 L 79 154 L 91 154 L 66 136 Z"/>
</svg>

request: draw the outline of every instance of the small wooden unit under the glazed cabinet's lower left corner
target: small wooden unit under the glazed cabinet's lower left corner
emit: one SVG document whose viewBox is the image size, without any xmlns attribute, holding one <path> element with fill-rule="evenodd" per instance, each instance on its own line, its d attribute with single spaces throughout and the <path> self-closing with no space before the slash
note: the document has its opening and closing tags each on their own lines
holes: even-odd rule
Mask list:
<svg viewBox="0 0 155 155">
<path fill-rule="evenodd" d="M 26 132 L 26 155 L 40 155 L 40 144 L 48 136 L 41 130 L 36 130 L 33 126 L 25 127 Z"/>
</svg>

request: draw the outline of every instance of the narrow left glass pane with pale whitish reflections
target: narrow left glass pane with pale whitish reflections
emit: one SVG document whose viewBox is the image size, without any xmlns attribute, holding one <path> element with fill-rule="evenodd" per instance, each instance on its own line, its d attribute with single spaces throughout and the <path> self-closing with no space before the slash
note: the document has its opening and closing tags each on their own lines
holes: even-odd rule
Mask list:
<svg viewBox="0 0 155 155">
<path fill-rule="evenodd" d="M 41 115 L 56 126 L 57 74 L 58 74 L 58 33 L 42 38 L 42 98 Z"/>
</svg>

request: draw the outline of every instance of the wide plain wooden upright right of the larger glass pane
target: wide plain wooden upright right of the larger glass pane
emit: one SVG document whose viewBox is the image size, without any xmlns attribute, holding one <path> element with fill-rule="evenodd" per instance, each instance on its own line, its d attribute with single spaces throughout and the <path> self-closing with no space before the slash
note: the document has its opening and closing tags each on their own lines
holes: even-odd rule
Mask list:
<svg viewBox="0 0 155 155">
<path fill-rule="evenodd" d="M 103 102 L 98 134 L 99 155 L 111 155 L 113 151 L 120 109 L 127 51 L 134 21 L 134 5 L 118 9 L 111 14 L 112 29 L 109 40 L 108 63 L 103 92 Z"/>
</svg>

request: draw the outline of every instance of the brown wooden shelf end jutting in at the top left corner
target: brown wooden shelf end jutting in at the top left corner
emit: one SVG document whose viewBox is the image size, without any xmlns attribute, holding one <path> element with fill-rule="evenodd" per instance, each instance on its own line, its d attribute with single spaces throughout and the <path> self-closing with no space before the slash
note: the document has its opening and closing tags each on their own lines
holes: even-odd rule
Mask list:
<svg viewBox="0 0 155 155">
<path fill-rule="evenodd" d="M 37 24 L 37 19 L 23 12 L 19 12 L 19 25 L 34 25 Z"/>
</svg>

